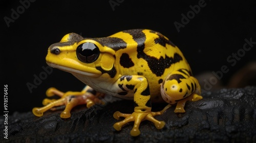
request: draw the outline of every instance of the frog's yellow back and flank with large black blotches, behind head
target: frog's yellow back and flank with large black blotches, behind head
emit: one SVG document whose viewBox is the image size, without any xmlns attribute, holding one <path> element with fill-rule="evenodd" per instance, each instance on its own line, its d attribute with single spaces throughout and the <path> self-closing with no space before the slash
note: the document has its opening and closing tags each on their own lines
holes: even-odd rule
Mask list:
<svg viewBox="0 0 256 143">
<path fill-rule="evenodd" d="M 160 85 L 168 74 L 181 68 L 191 71 L 179 48 L 159 32 L 133 29 L 109 37 L 119 39 L 112 46 L 117 73 L 146 77 L 153 99 L 160 95 Z"/>
</svg>

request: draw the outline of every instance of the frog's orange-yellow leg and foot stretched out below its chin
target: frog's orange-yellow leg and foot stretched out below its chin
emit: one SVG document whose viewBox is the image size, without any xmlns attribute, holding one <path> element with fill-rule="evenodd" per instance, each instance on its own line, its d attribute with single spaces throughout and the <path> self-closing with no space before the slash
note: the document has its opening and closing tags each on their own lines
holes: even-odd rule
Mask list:
<svg viewBox="0 0 256 143">
<path fill-rule="evenodd" d="M 60 97 L 58 100 L 50 100 L 45 99 L 42 104 L 45 105 L 44 107 L 35 107 L 33 108 L 32 112 L 36 116 L 42 116 L 44 112 L 46 112 L 49 109 L 54 110 L 56 106 L 62 106 L 66 105 L 65 110 L 63 110 L 60 114 L 61 118 L 69 118 L 71 116 L 70 111 L 73 107 L 77 105 L 87 104 L 87 107 L 93 106 L 95 103 L 102 103 L 102 101 L 99 100 L 99 97 L 103 97 L 104 94 L 100 92 L 96 92 L 91 87 L 86 86 L 82 91 L 80 92 L 73 92 L 68 91 L 66 93 L 61 92 L 57 90 L 56 88 L 49 88 L 46 91 L 46 95 L 48 97 L 52 97 L 54 95 L 57 95 Z"/>
</svg>

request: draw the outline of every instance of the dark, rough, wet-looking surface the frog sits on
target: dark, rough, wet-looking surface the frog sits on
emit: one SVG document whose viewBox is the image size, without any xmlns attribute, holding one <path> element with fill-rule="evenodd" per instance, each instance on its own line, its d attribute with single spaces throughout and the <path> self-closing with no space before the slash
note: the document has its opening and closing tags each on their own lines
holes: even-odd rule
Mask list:
<svg viewBox="0 0 256 143">
<path fill-rule="evenodd" d="M 256 87 L 221 89 L 202 95 L 203 100 L 187 102 L 186 113 L 174 113 L 175 106 L 163 115 L 158 130 L 143 121 L 141 134 L 132 137 L 133 122 L 115 131 L 115 111 L 133 112 L 133 101 L 116 101 L 92 108 L 78 106 L 71 118 L 60 118 L 61 110 L 48 111 L 42 117 L 32 112 L 14 113 L 8 117 L 8 139 L 1 134 L 0 142 L 256 142 Z M 161 110 L 166 104 L 153 104 Z M 1 117 L 0 122 L 3 123 Z M 1 129 L 4 128 L 1 124 Z"/>
</svg>

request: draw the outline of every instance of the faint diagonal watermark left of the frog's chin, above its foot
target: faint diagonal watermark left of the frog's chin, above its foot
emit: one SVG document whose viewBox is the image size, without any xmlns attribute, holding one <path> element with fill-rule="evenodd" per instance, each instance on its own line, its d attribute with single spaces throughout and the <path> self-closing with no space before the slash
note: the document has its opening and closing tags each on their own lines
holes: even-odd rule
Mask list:
<svg viewBox="0 0 256 143">
<path fill-rule="evenodd" d="M 52 74 L 53 68 L 50 66 L 42 66 L 42 69 L 44 69 L 44 71 L 41 71 L 39 73 L 39 75 L 33 75 L 34 76 L 34 80 L 33 83 L 27 82 L 27 87 L 29 89 L 29 92 L 32 93 L 32 89 L 33 88 L 37 88 L 43 80 L 47 79 L 48 75 Z"/>
</svg>

